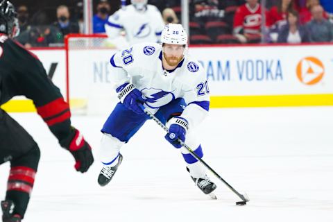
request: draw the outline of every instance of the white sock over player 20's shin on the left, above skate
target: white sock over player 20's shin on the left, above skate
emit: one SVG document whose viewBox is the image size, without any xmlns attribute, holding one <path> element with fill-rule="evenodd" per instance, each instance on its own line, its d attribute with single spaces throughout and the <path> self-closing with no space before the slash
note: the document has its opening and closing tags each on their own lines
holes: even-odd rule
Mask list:
<svg viewBox="0 0 333 222">
<path fill-rule="evenodd" d="M 114 160 L 119 154 L 121 146 L 124 142 L 121 142 L 116 137 L 108 133 L 103 133 L 101 138 L 101 145 L 99 148 L 100 160 L 104 164 L 108 164 Z"/>
</svg>

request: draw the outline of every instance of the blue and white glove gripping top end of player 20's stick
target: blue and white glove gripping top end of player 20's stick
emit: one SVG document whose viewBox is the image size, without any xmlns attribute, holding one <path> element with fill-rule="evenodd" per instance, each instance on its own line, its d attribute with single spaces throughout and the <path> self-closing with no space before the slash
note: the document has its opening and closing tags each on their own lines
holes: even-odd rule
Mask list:
<svg viewBox="0 0 333 222">
<path fill-rule="evenodd" d="M 140 108 L 139 103 L 143 104 L 146 98 L 132 83 L 124 83 L 116 89 L 116 92 L 118 93 L 118 99 L 128 110 L 137 114 L 144 114 L 144 110 Z"/>
</svg>

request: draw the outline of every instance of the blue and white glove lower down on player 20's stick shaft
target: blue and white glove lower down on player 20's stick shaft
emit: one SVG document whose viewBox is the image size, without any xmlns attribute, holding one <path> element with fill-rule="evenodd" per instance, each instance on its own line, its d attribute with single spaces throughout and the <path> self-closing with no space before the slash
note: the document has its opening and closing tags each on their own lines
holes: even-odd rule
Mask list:
<svg viewBox="0 0 333 222">
<path fill-rule="evenodd" d="M 189 123 L 182 117 L 173 117 L 170 119 L 169 123 L 171 123 L 171 125 L 169 128 L 169 133 L 165 135 L 165 139 L 167 139 L 167 141 L 171 143 L 172 146 L 180 148 L 182 145 L 180 142 L 178 142 L 178 139 L 180 139 L 182 142 L 185 142 L 185 135 L 189 129 Z"/>
</svg>

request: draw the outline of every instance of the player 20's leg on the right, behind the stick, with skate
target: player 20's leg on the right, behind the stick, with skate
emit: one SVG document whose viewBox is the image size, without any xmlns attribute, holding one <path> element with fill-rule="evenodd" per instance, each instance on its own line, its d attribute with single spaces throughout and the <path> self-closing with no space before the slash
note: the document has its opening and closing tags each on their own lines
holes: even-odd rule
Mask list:
<svg viewBox="0 0 333 222">
<path fill-rule="evenodd" d="M 185 106 L 186 103 L 183 99 L 176 99 L 168 105 L 164 105 L 164 107 L 160 108 L 155 116 L 160 119 L 162 123 L 167 122 L 167 127 L 169 127 L 168 121 L 173 117 L 180 116 L 185 109 Z M 196 155 L 203 157 L 203 148 L 201 147 L 200 142 L 198 142 L 198 135 L 196 135 L 195 132 L 191 132 L 191 129 L 186 135 L 185 144 L 191 147 Z M 216 185 L 207 177 L 203 164 L 200 164 L 200 162 L 198 162 L 198 160 L 196 160 L 186 148 L 180 148 L 180 152 L 186 162 L 187 171 L 189 171 L 195 185 L 198 186 L 204 194 L 212 193 L 212 191 L 216 189 Z"/>
</svg>

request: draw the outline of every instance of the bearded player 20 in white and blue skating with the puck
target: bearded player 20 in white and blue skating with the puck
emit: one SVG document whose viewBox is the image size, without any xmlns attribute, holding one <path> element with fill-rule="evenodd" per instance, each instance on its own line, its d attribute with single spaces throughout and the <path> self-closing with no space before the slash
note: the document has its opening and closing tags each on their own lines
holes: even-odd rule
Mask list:
<svg viewBox="0 0 333 222">
<path fill-rule="evenodd" d="M 147 115 L 146 108 L 167 122 L 165 139 L 179 148 L 191 178 L 205 194 L 216 185 L 207 178 L 203 165 L 182 148 L 186 142 L 199 157 L 203 150 L 191 130 L 203 121 L 210 106 L 210 89 L 205 71 L 197 60 L 187 55 L 187 33 L 181 24 L 165 26 L 162 44 L 135 44 L 110 58 L 113 81 L 120 100 L 102 128 L 99 185 L 105 186 L 117 171 L 121 146 L 137 133 Z"/>
</svg>

